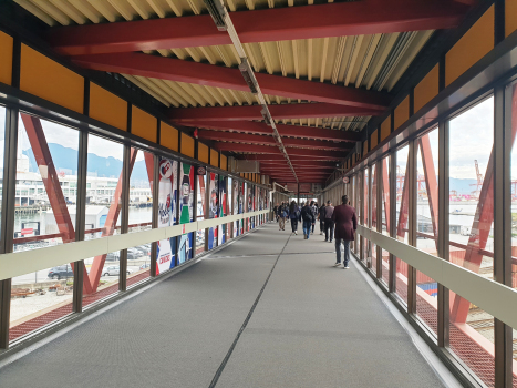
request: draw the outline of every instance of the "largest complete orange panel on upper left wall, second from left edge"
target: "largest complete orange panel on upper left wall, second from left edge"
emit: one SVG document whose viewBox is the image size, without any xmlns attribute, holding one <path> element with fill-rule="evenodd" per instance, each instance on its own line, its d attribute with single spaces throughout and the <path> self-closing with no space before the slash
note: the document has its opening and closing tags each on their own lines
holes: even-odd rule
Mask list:
<svg viewBox="0 0 517 388">
<path fill-rule="evenodd" d="M 21 45 L 20 89 L 83 113 L 84 79 L 35 50 Z"/>
</svg>

